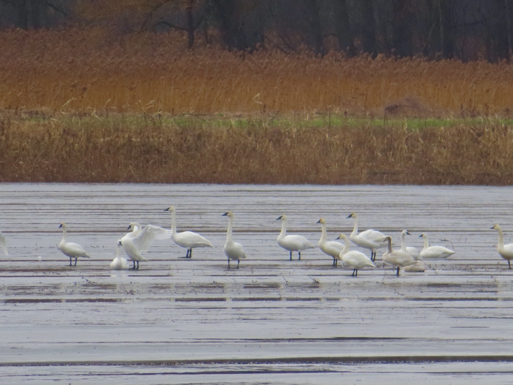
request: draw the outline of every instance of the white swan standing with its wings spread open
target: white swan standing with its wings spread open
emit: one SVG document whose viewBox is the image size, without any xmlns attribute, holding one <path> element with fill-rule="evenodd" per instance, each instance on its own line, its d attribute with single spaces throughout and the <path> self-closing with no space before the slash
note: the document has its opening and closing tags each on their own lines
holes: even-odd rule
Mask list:
<svg viewBox="0 0 513 385">
<path fill-rule="evenodd" d="M 171 230 L 164 227 L 147 225 L 143 229 L 137 222 L 131 222 L 128 229 L 132 232 L 120 239 L 119 244 L 123 246 L 128 258 L 133 261 L 133 270 L 139 270 L 139 262 L 149 262 L 141 253 L 148 251 L 155 241 L 163 241 L 171 238 Z M 137 262 L 137 267 L 135 267 Z"/>
</svg>

